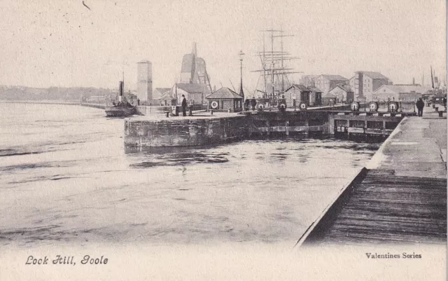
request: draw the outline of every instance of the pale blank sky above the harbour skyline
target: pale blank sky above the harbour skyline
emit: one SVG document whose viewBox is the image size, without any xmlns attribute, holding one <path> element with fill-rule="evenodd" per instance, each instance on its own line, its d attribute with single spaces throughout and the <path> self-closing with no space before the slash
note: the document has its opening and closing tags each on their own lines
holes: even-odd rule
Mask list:
<svg viewBox="0 0 448 281">
<path fill-rule="evenodd" d="M 153 63 L 153 87 L 179 81 L 197 42 L 212 85 L 255 90 L 261 30 L 283 29 L 302 74 L 380 71 L 393 83 L 446 76 L 444 0 L 28 0 L 0 1 L 0 85 L 137 88 L 137 62 Z M 300 75 L 291 79 L 298 83 Z"/>
</svg>

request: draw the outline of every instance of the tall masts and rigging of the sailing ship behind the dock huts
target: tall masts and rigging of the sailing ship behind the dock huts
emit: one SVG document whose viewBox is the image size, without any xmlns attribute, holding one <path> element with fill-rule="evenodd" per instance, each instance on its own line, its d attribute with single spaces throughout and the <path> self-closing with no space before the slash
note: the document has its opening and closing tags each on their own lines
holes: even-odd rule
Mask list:
<svg viewBox="0 0 448 281">
<path fill-rule="evenodd" d="M 290 53 L 283 50 L 283 37 L 293 36 L 284 34 L 283 30 L 267 29 L 262 30 L 263 48 L 257 53 L 260 57 L 261 69 L 252 72 L 260 72 L 255 90 L 255 95 L 265 99 L 269 99 L 271 104 L 280 98 L 282 92 L 292 85 L 292 81 L 288 74 L 301 73 L 294 71 L 293 68 L 287 67 L 286 62 L 297 60 L 299 57 L 293 57 Z M 266 35 L 270 39 L 270 50 L 266 50 Z M 279 42 L 278 42 L 279 41 Z M 280 43 L 280 49 L 276 49 Z"/>
</svg>

